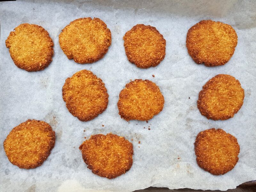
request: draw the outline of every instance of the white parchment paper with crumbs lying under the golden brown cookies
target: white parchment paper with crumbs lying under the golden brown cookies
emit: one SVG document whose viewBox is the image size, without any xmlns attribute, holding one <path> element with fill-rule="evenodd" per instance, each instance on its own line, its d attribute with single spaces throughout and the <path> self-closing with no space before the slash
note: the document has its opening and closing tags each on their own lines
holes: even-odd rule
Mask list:
<svg viewBox="0 0 256 192">
<path fill-rule="evenodd" d="M 149 186 L 226 190 L 256 180 L 255 4 L 253 0 L 0 2 L 0 191 L 128 192 Z M 68 60 L 60 49 L 61 29 L 81 17 L 100 18 L 112 33 L 109 51 L 93 64 Z M 188 55 L 188 29 L 207 19 L 230 24 L 238 35 L 236 51 L 224 66 L 197 65 Z M 5 47 L 9 33 L 26 22 L 44 27 L 54 41 L 52 63 L 43 71 L 17 68 Z M 125 55 L 122 38 L 139 23 L 156 27 L 166 39 L 166 56 L 155 68 L 137 68 Z M 68 112 L 61 92 L 66 78 L 82 69 L 100 77 L 109 94 L 106 111 L 89 122 Z M 244 105 L 225 121 L 207 120 L 196 106 L 202 86 L 217 74 L 234 76 L 245 91 Z M 148 123 L 126 122 L 118 115 L 119 92 L 136 78 L 155 82 L 164 95 L 163 111 Z M 8 161 L 3 142 L 13 127 L 29 118 L 51 124 L 56 144 L 42 166 L 25 170 Z M 240 144 L 239 161 L 225 175 L 212 175 L 196 164 L 196 135 L 212 127 L 234 135 Z M 124 136 L 134 148 L 131 170 L 112 180 L 87 169 L 78 149 L 84 137 L 109 132 Z"/>
</svg>

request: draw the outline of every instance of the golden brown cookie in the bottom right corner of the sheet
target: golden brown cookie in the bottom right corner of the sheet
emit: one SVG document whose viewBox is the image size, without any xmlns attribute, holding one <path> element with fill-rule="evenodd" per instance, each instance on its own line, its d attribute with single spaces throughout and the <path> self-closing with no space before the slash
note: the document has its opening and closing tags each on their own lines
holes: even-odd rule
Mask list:
<svg viewBox="0 0 256 192">
<path fill-rule="evenodd" d="M 240 147 L 236 138 L 222 129 L 208 129 L 198 133 L 195 153 L 199 167 L 220 175 L 233 169 L 238 161 Z"/>
</svg>

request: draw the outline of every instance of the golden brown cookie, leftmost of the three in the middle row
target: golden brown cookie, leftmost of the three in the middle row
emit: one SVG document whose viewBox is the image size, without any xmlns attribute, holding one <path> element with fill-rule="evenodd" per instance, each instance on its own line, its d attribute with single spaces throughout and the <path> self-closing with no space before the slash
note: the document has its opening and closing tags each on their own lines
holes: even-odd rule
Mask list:
<svg viewBox="0 0 256 192">
<path fill-rule="evenodd" d="M 81 70 L 67 78 L 62 88 L 68 111 L 80 121 L 89 121 L 101 114 L 108 105 L 107 89 L 91 71 Z"/>
</svg>

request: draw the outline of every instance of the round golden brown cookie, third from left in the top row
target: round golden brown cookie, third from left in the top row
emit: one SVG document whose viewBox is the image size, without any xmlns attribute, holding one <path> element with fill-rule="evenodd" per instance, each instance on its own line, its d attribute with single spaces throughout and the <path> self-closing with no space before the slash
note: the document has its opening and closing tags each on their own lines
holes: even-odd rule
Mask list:
<svg viewBox="0 0 256 192">
<path fill-rule="evenodd" d="M 155 27 L 135 25 L 123 39 L 128 60 L 139 68 L 155 67 L 164 59 L 166 41 Z"/>
</svg>

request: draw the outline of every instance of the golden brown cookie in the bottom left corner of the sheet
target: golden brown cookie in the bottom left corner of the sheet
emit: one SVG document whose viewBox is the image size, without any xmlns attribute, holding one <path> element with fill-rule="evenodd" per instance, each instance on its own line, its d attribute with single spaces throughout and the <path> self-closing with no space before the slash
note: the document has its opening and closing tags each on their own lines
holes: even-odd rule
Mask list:
<svg viewBox="0 0 256 192">
<path fill-rule="evenodd" d="M 12 129 L 4 140 L 4 151 L 12 164 L 32 169 L 43 164 L 54 144 L 55 132 L 48 123 L 28 119 Z"/>
</svg>

